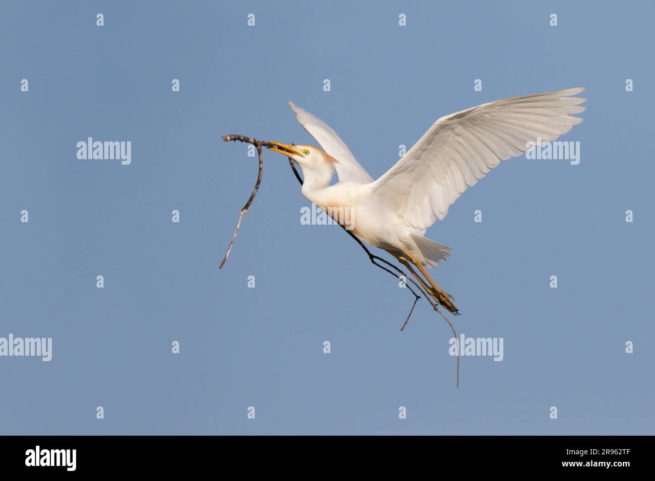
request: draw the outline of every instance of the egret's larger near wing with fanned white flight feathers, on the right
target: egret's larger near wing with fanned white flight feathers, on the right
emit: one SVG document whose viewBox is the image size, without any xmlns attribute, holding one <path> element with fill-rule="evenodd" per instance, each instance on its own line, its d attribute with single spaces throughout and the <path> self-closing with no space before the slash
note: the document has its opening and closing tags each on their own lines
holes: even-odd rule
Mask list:
<svg viewBox="0 0 655 481">
<path fill-rule="evenodd" d="M 371 185 L 373 196 L 409 228 L 424 231 L 501 160 L 527 151 L 528 142 L 553 141 L 582 122 L 586 107 L 572 97 L 584 88 L 483 103 L 437 120 L 409 151 Z M 388 203 L 391 204 L 388 204 Z"/>
</svg>

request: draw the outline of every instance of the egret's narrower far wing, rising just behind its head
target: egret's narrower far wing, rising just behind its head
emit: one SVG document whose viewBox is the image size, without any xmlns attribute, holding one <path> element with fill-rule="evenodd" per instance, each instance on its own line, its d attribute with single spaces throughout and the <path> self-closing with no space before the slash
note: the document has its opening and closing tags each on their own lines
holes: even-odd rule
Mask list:
<svg viewBox="0 0 655 481">
<path fill-rule="evenodd" d="M 357 162 L 348 146 L 339 138 L 337 132 L 332 130 L 320 118 L 293 105 L 293 102 L 290 101 L 288 105 L 295 113 L 295 119 L 300 122 L 301 126 L 316 139 L 327 154 L 337 159 L 335 168 L 337 169 L 337 175 L 339 175 L 339 181 L 373 182 L 373 177 Z"/>
</svg>

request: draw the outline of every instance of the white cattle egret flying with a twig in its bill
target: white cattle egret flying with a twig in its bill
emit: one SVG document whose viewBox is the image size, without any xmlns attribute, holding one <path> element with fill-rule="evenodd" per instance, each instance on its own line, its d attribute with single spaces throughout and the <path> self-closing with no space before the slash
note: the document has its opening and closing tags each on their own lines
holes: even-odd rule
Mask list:
<svg viewBox="0 0 655 481">
<path fill-rule="evenodd" d="M 298 122 L 324 150 L 278 142 L 269 149 L 300 166 L 307 200 L 341 224 L 349 220 L 353 234 L 394 255 L 436 302 L 457 313 L 452 296 L 425 270 L 449 257 L 451 248 L 424 238 L 426 228 L 442 220 L 460 194 L 501 160 L 522 154 L 538 139 L 553 141 L 582 122 L 572 115 L 586 109 L 580 106 L 586 99 L 574 97 L 583 90 L 502 99 L 441 117 L 375 181 L 334 130 L 291 101 Z M 330 185 L 335 170 L 339 182 Z"/>
</svg>

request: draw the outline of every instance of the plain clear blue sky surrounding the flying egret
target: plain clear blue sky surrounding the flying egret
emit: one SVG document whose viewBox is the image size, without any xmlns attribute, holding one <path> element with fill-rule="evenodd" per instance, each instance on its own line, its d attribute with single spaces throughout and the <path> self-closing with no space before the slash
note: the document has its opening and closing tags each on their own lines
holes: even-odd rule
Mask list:
<svg viewBox="0 0 655 481">
<path fill-rule="evenodd" d="M 652 434 L 654 14 L 3 1 L 0 336 L 54 346 L 50 363 L 0 358 L 0 433 Z M 500 363 L 462 358 L 459 389 L 443 319 L 421 301 L 400 332 L 411 294 L 339 227 L 300 224 L 309 202 L 278 154 L 218 270 L 257 174 L 220 135 L 313 143 L 292 99 L 377 177 L 441 115 L 574 86 L 589 99 L 563 137 L 578 166 L 507 160 L 428 230 L 453 247 L 432 274 L 458 332 L 504 338 Z M 132 141 L 132 164 L 78 160 L 87 137 Z"/>
</svg>

